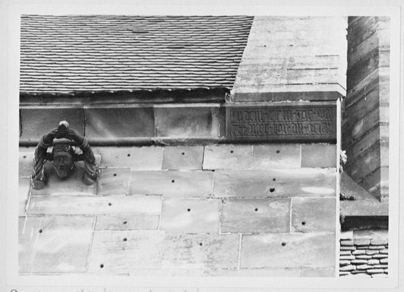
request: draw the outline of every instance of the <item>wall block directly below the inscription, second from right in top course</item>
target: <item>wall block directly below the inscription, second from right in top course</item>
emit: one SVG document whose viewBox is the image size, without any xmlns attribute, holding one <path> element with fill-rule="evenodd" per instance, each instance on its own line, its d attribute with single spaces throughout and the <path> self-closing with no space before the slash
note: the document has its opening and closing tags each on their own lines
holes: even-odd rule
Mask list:
<svg viewBox="0 0 404 292">
<path fill-rule="evenodd" d="M 252 146 L 252 169 L 300 167 L 300 144 Z"/>
</svg>

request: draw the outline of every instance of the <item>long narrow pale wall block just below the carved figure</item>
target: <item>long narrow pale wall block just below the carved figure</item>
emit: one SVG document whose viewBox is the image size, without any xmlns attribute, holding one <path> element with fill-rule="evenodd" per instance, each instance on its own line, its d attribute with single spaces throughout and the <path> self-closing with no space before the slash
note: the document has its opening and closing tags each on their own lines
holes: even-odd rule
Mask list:
<svg viewBox="0 0 404 292">
<path fill-rule="evenodd" d="M 28 214 L 156 214 L 161 211 L 161 196 L 34 196 Z"/>
</svg>

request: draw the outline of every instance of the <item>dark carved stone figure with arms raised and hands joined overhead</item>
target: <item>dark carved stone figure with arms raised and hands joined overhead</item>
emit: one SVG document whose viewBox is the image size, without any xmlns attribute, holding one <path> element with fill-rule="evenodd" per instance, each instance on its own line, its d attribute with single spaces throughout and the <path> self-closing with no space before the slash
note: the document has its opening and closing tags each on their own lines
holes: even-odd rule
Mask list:
<svg viewBox="0 0 404 292">
<path fill-rule="evenodd" d="M 53 144 L 54 139 L 62 138 L 75 142 L 83 154 L 75 153 L 69 144 L 56 144 L 52 152 L 47 152 L 47 148 Z M 46 185 L 47 175 L 43 167 L 46 161 L 53 161 L 56 173 L 63 180 L 72 174 L 74 162 L 79 160 L 83 160 L 85 165 L 82 178 L 84 184 L 94 184 L 98 176 L 98 165 L 95 163 L 95 157 L 87 139 L 77 131 L 69 129 L 69 123 L 62 121 L 58 128 L 44 134 L 35 148 L 31 186 L 40 190 Z"/>
</svg>

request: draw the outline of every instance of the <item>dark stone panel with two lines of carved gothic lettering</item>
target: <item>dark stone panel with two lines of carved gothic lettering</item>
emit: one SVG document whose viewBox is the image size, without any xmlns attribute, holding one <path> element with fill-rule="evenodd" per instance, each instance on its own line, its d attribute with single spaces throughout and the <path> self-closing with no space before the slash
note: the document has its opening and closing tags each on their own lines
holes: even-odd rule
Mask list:
<svg viewBox="0 0 404 292">
<path fill-rule="evenodd" d="M 227 137 L 237 140 L 336 140 L 335 105 L 229 106 Z"/>
</svg>

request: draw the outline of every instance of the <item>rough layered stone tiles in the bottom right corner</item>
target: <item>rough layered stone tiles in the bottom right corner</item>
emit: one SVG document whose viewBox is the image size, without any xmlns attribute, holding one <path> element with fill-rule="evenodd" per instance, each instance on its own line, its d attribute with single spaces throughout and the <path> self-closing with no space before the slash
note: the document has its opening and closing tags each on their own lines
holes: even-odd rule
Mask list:
<svg viewBox="0 0 404 292">
<path fill-rule="evenodd" d="M 387 277 L 388 231 L 346 231 L 340 239 L 340 276 Z"/>
</svg>

